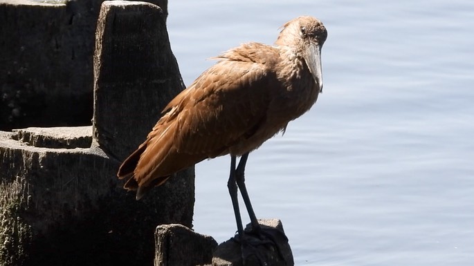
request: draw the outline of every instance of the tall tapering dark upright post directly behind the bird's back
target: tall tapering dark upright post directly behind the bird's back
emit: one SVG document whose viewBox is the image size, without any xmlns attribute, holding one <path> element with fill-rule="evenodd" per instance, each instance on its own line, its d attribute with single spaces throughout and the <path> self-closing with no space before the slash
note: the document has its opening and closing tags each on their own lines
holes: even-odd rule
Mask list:
<svg viewBox="0 0 474 266">
<path fill-rule="evenodd" d="M 95 43 L 94 101 L 107 108 L 94 109 L 93 135 L 117 158 L 126 158 L 145 140 L 184 88 L 170 42 L 163 41 L 169 39 L 163 11 L 135 3 L 104 1 Z"/>
</svg>

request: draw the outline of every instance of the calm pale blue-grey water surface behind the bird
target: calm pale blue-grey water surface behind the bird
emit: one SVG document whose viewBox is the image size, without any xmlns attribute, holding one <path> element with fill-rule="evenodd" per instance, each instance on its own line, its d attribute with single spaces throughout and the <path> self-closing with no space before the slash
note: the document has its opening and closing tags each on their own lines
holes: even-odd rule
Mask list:
<svg viewBox="0 0 474 266">
<path fill-rule="evenodd" d="M 325 23 L 325 88 L 250 154 L 259 218 L 280 218 L 296 265 L 474 265 L 474 2 L 170 1 L 186 84 L 299 15 Z M 197 166 L 194 228 L 236 227 L 228 157 Z M 248 219 L 246 220 L 248 222 Z"/>
</svg>

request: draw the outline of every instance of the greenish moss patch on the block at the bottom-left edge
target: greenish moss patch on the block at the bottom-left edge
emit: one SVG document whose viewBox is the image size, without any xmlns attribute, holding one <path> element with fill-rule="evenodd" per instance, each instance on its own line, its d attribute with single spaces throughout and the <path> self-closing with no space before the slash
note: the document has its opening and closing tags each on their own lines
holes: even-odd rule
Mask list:
<svg viewBox="0 0 474 266">
<path fill-rule="evenodd" d="M 0 179 L 0 265 L 24 265 L 31 244 L 31 227 L 21 218 L 28 207 L 24 180 Z"/>
</svg>

